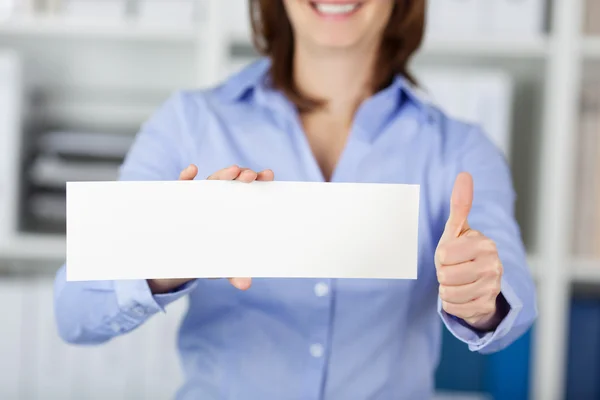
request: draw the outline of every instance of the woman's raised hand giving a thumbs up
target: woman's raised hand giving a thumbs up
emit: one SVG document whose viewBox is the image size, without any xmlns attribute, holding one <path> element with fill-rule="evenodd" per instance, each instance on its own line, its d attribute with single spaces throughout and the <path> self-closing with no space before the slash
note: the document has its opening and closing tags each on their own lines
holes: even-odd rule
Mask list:
<svg viewBox="0 0 600 400">
<path fill-rule="evenodd" d="M 496 244 L 467 221 L 473 204 L 473 178 L 456 178 L 450 217 L 435 253 L 442 307 L 475 329 L 493 330 L 499 324 L 497 299 L 502 263 Z"/>
</svg>

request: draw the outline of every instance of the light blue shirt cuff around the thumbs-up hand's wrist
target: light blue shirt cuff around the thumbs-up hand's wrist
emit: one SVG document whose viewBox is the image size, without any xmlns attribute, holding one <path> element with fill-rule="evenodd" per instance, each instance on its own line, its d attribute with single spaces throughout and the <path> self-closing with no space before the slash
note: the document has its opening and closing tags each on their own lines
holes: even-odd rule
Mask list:
<svg viewBox="0 0 600 400">
<path fill-rule="evenodd" d="M 440 297 L 438 297 L 438 314 L 442 318 L 446 328 L 448 328 L 458 340 L 468 344 L 471 351 L 481 351 L 490 344 L 506 336 L 512 329 L 519 313 L 523 309 L 521 300 L 504 278 L 501 283 L 501 293 L 506 299 L 510 310 L 498 327 L 492 332 L 480 333 L 478 330 L 468 326 L 460 318 L 448 314 L 442 308 L 442 300 Z"/>
</svg>

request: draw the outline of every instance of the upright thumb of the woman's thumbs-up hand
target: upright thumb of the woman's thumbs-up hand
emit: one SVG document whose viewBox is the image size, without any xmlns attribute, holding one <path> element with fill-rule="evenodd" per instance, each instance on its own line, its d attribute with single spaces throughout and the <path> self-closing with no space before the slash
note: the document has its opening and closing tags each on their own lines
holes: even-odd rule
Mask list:
<svg viewBox="0 0 600 400">
<path fill-rule="evenodd" d="M 454 182 L 450 199 L 450 217 L 446 222 L 442 240 L 457 238 L 470 229 L 467 219 L 472 205 L 473 177 L 468 172 L 461 172 Z"/>
</svg>

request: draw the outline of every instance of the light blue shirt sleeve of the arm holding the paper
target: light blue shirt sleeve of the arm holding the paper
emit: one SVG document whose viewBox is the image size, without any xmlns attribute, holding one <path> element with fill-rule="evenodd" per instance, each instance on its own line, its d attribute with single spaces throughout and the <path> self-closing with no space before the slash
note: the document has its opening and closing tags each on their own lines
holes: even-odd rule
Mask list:
<svg viewBox="0 0 600 400">
<path fill-rule="evenodd" d="M 182 94 L 173 95 L 142 126 L 120 169 L 120 180 L 176 180 L 191 148 L 182 113 Z M 70 343 L 96 344 L 127 333 L 194 290 L 153 295 L 146 280 L 67 282 L 63 265 L 54 285 L 59 335 Z"/>
</svg>

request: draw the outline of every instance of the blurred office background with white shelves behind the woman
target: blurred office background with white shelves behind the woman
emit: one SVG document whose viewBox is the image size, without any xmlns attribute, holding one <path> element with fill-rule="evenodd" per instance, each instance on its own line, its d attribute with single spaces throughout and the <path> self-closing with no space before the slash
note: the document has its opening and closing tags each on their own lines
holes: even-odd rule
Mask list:
<svg viewBox="0 0 600 400">
<path fill-rule="evenodd" d="M 172 397 L 185 302 L 99 348 L 57 337 L 65 182 L 114 180 L 169 94 L 255 58 L 246 0 L 0 0 L 0 399 Z M 600 398 L 599 66 L 600 0 L 428 1 L 413 71 L 505 152 L 540 312 L 492 356 L 445 332 L 441 398 Z"/>
</svg>

